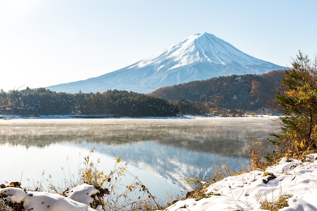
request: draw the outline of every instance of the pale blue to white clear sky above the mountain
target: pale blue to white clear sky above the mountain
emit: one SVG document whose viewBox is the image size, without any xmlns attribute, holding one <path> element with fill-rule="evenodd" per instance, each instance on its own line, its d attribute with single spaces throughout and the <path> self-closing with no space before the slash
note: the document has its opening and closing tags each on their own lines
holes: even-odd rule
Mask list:
<svg viewBox="0 0 317 211">
<path fill-rule="evenodd" d="M 317 54 L 317 1 L 0 0 L 0 89 L 114 71 L 196 33 L 290 66 Z"/>
</svg>

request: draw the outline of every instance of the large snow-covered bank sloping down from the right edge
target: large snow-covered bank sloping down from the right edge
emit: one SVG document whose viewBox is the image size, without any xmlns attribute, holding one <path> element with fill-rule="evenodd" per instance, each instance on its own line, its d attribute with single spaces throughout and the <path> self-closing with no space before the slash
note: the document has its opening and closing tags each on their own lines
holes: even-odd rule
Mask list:
<svg viewBox="0 0 317 211">
<path fill-rule="evenodd" d="M 289 206 L 281 211 L 317 210 L 317 154 L 307 155 L 306 161 L 283 158 L 265 172 L 252 171 L 227 177 L 210 185 L 208 198 L 180 200 L 165 211 L 266 210 L 261 202 L 288 198 Z"/>
</svg>

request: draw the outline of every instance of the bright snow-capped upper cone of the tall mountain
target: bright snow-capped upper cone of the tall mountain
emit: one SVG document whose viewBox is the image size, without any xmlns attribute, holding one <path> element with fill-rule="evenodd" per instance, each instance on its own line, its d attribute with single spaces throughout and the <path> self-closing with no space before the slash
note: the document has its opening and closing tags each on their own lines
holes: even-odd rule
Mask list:
<svg viewBox="0 0 317 211">
<path fill-rule="evenodd" d="M 201 62 L 227 66 L 236 61 L 241 65 L 259 65 L 264 62 L 243 53 L 215 35 L 204 32 L 191 35 L 160 54 L 141 60 L 134 67 L 154 64 L 159 67 L 169 65 L 169 69 L 173 69 Z"/>
</svg>

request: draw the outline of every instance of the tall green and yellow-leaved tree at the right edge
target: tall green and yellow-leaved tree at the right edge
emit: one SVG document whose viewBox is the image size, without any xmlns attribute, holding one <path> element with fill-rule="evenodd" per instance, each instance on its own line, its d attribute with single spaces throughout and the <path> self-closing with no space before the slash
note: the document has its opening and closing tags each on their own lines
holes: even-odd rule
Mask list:
<svg viewBox="0 0 317 211">
<path fill-rule="evenodd" d="M 273 144 L 281 148 L 281 156 L 302 157 L 317 152 L 317 59 L 310 60 L 301 52 L 285 70 L 276 102 L 283 107 L 282 135 Z"/>
</svg>

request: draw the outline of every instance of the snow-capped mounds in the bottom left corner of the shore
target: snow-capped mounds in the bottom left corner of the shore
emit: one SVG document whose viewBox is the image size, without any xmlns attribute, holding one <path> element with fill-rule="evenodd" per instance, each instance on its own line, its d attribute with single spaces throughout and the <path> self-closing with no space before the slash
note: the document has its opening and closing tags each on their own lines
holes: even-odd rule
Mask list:
<svg viewBox="0 0 317 211">
<path fill-rule="evenodd" d="M 68 197 L 57 193 L 48 192 L 25 192 L 19 187 L 6 187 L 0 189 L 0 196 L 15 207 L 15 210 L 50 210 L 50 211 L 78 211 L 78 210 L 102 210 L 90 207 L 94 195 L 99 191 L 92 185 L 79 185 L 67 194 Z"/>
</svg>

